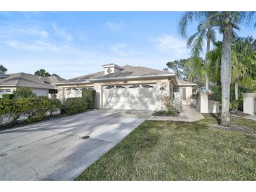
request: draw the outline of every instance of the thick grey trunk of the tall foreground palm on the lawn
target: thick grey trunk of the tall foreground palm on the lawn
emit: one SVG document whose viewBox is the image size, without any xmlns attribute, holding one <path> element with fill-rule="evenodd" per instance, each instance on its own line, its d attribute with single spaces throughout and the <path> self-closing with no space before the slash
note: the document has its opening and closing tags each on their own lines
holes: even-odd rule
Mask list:
<svg viewBox="0 0 256 192">
<path fill-rule="evenodd" d="M 230 125 L 229 102 L 231 83 L 231 45 L 232 27 L 224 27 L 221 56 L 220 81 L 222 83 L 222 122 L 221 125 Z"/>
</svg>

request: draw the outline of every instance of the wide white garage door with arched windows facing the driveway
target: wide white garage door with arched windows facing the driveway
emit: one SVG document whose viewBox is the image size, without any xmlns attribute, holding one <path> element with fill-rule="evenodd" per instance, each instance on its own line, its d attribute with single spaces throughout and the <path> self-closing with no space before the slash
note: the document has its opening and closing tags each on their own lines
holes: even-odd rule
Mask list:
<svg viewBox="0 0 256 192">
<path fill-rule="evenodd" d="M 109 85 L 103 87 L 103 107 L 106 109 L 156 109 L 156 85 Z"/>
</svg>

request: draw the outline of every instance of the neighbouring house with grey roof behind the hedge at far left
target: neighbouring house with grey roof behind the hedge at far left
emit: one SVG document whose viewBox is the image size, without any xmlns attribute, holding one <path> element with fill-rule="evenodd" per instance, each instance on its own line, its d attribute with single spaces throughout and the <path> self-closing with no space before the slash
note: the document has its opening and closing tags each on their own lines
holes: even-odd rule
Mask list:
<svg viewBox="0 0 256 192">
<path fill-rule="evenodd" d="M 51 83 L 59 83 L 64 79 L 59 78 L 59 81 L 56 81 L 57 77 L 39 77 L 32 74 L 17 73 L 17 74 L 8 74 L 5 78 L 0 79 L 0 98 L 3 94 L 10 94 L 13 90 L 16 90 L 18 87 L 25 87 L 32 90 L 36 95 L 49 96 L 56 95 L 58 90 L 55 85 Z M 57 78 L 58 79 L 58 78 Z"/>
</svg>

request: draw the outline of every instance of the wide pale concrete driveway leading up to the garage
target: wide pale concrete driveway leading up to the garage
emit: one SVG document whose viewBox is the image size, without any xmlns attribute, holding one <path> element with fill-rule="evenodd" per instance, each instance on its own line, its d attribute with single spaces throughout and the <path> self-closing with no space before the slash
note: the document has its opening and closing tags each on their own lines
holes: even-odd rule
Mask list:
<svg viewBox="0 0 256 192">
<path fill-rule="evenodd" d="M 151 114 L 99 109 L 0 131 L 0 180 L 72 180 Z"/>
</svg>

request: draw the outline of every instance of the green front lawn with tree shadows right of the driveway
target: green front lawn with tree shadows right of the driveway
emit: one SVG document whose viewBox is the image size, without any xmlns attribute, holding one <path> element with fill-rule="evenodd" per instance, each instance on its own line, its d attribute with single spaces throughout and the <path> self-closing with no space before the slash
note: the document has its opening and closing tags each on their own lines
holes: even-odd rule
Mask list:
<svg viewBox="0 0 256 192">
<path fill-rule="evenodd" d="M 256 135 L 211 128 L 217 121 L 145 121 L 76 180 L 256 180 Z"/>
</svg>

